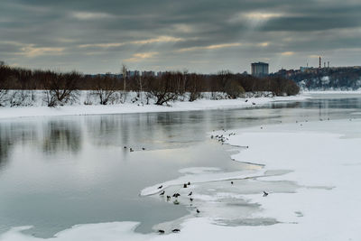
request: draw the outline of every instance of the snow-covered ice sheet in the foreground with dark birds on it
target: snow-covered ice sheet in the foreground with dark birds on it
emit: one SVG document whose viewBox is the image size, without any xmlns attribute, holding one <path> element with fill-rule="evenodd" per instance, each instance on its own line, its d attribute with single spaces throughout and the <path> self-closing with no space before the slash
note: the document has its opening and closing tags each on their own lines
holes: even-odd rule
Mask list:
<svg viewBox="0 0 361 241">
<path fill-rule="evenodd" d="M 221 134 L 227 144 L 241 146 L 232 155 L 235 162 L 255 164 L 236 173 L 190 167 L 176 180 L 140 190 L 160 201 L 167 201 L 159 195 L 163 190 L 179 192 L 180 205 L 190 209 L 187 217 L 148 235 L 134 233 L 135 222 L 115 222 L 75 226 L 47 240 L 361 240 L 359 119 L 300 119 L 209 136 Z M 23 235 L 26 228 L 14 228 L 0 240 L 42 240 Z M 180 232 L 172 233 L 174 228 Z"/>
</svg>

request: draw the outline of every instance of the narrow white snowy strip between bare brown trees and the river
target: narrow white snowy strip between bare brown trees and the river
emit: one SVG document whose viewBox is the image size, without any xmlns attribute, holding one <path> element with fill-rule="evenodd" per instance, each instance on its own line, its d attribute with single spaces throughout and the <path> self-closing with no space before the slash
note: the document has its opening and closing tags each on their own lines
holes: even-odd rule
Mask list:
<svg viewBox="0 0 361 241">
<path fill-rule="evenodd" d="M 116 104 L 116 105 L 72 105 L 64 107 L 0 107 L 0 118 L 31 117 L 31 116 L 84 116 L 84 115 L 106 115 L 125 113 L 149 113 L 149 112 L 171 112 L 190 111 L 205 109 L 226 109 L 257 107 L 273 101 L 303 100 L 308 97 L 252 97 L 238 99 L 198 99 L 193 102 L 177 101 L 170 103 L 170 107 L 156 105 L 138 105 L 136 103 Z"/>
</svg>

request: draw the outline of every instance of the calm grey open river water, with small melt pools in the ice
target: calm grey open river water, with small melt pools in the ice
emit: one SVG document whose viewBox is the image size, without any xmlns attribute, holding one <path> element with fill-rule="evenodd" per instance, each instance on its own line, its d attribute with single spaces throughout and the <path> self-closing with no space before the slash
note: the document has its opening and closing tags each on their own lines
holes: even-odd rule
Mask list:
<svg viewBox="0 0 361 241">
<path fill-rule="evenodd" d="M 138 221 L 136 231 L 152 232 L 154 225 L 188 215 L 189 209 L 140 197 L 144 188 L 176 179 L 188 167 L 255 168 L 233 162 L 236 148 L 210 140 L 209 132 L 359 117 L 361 95 L 321 95 L 248 109 L 2 120 L 0 234 L 32 225 L 25 233 L 49 237 L 73 225 L 112 221 Z M 245 192 L 262 190 L 257 181 L 243 184 Z M 297 186 L 268 185 L 290 192 Z M 209 183 L 208 189 L 217 187 Z M 252 212 L 258 207 L 238 208 Z"/>
</svg>

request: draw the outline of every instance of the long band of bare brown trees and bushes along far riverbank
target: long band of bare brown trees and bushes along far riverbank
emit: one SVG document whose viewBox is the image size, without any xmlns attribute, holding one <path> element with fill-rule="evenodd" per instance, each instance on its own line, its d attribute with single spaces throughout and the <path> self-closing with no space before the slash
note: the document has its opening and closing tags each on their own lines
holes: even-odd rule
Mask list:
<svg viewBox="0 0 361 241">
<path fill-rule="evenodd" d="M 264 92 L 273 96 L 291 96 L 299 92 L 298 86 L 290 79 L 256 78 L 234 74 L 227 70 L 212 75 L 188 71 L 162 72 L 160 76 L 130 76 L 128 73 L 125 66 L 120 75 L 110 73 L 85 75 L 76 71 L 27 70 L 1 65 L 0 105 L 1 99 L 8 97 L 10 89 L 17 90 L 16 99 L 23 99 L 24 93 L 32 95 L 33 90 L 42 90 L 43 101 L 49 107 L 76 102 L 79 98 L 79 90 L 89 90 L 90 95 L 96 97 L 98 104 L 102 105 L 124 103 L 130 91 L 136 92 L 137 97 L 143 95 L 142 98 L 146 102 L 144 104 L 149 104 L 149 101 L 153 100 L 156 105 L 177 99 L 194 101 L 204 92 L 210 92 L 213 99 L 243 97 L 245 92 Z M 14 95 L 17 92 L 12 93 Z M 17 101 L 21 102 L 21 100 Z"/>
</svg>

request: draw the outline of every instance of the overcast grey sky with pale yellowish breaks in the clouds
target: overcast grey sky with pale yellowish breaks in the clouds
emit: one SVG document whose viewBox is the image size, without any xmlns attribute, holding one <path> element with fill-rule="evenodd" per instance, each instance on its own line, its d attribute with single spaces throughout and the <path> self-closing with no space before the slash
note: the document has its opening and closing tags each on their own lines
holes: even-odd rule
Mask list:
<svg viewBox="0 0 361 241">
<path fill-rule="evenodd" d="M 0 60 L 83 73 L 361 65 L 360 0 L 1 0 Z"/>
</svg>

